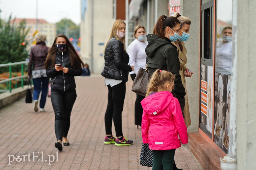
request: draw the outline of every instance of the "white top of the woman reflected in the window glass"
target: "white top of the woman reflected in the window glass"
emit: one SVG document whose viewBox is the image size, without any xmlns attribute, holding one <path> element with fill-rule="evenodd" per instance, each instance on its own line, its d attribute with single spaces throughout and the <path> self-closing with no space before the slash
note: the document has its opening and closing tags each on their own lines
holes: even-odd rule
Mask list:
<svg viewBox="0 0 256 170">
<path fill-rule="evenodd" d="M 232 41 L 216 44 L 215 72 L 231 75 L 232 67 Z"/>
</svg>

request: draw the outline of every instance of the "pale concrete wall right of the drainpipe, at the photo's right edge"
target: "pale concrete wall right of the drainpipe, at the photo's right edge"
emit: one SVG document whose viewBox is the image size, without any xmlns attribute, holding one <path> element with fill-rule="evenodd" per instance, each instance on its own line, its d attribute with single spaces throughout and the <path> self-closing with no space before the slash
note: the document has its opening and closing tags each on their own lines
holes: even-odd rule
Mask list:
<svg viewBox="0 0 256 170">
<path fill-rule="evenodd" d="M 237 1 L 237 169 L 255 169 L 255 1 Z M 246 9 L 246 10 L 245 10 Z M 231 96 L 232 97 L 232 96 Z"/>
</svg>

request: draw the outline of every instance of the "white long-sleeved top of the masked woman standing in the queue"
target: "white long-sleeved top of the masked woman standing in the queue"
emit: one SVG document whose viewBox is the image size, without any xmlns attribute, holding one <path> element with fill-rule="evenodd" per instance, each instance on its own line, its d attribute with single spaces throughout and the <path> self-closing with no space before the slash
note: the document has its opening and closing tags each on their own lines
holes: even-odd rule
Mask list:
<svg viewBox="0 0 256 170">
<path fill-rule="evenodd" d="M 131 44 L 127 48 L 127 53 L 130 57 L 130 66 L 134 67 L 134 71 L 130 72 L 130 74 L 137 74 L 140 67 L 145 69 L 146 66 L 146 52 L 145 49 L 148 45 L 148 42 L 141 42 L 137 39 L 131 42 Z"/>
</svg>

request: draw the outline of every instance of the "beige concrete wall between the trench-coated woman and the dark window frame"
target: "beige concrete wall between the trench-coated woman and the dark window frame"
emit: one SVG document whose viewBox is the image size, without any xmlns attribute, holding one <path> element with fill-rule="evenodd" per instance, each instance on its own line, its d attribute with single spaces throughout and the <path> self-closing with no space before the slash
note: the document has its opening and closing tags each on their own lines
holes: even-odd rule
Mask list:
<svg viewBox="0 0 256 170">
<path fill-rule="evenodd" d="M 193 9 L 193 10 L 191 10 Z M 197 132 L 199 126 L 199 88 L 200 88 L 200 1 L 181 1 L 181 15 L 191 20 L 190 37 L 185 42 L 187 67 L 193 76 L 186 78 L 191 125 L 188 132 Z M 196 74 L 195 74 L 196 73 Z"/>
</svg>

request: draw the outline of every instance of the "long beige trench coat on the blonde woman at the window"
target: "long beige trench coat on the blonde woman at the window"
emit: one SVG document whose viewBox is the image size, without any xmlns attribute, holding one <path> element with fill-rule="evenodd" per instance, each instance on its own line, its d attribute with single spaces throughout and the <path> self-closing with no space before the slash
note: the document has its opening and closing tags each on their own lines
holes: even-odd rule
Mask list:
<svg viewBox="0 0 256 170">
<path fill-rule="evenodd" d="M 172 42 L 172 44 L 175 44 L 175 42 Z M 184 42 L 179 42 L 180 48 L 181 50 L 178 50 L 179 52 L 179 61 L 180 61 L 180 75 L 181 75 L 181 81 L 182 84 L 185 88 L 185 106 L 184 106 L 184 120 L 185 120 L 185 124 L 188 127 L 189 125 L 191 125 L 191 120 L 190 120 L 190 112 L 189 112 L 189 105 L 188 105 L 188 98 L 187 98 L 187 87 L 186 87 L 186 80 L 185 80 L 185 76 L 184 76 L 184 71 L 187 69 L 187 49 L 185 47 L 185 43 Z"/>
</svg>

